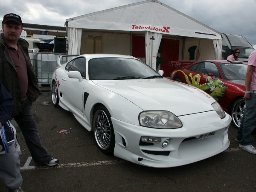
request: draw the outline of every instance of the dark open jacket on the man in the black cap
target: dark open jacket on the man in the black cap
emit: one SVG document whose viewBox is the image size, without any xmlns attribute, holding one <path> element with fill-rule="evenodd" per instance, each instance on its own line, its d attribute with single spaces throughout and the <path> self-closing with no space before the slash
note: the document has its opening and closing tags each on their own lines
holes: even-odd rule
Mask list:
<svg viewBox="0 0 256 192">
<path fill-rule="evenodd" d="M 27 96 L 34 102 L 41 91 L 38 87 L 37 79 L 35 78 L 35 73 L 29 58 L 28 47 L 29 43 L 19 38 L 20 49 L 23 52 L 24 58 L 26 60 L 27 72 L 28 72 L 28 91 Z M 12 111 L 12 116 L 18 114 L 21 111 L 21 101 L 20 101 L 20 81 L 15 68 L 15 64 L 12 61 L 9 52 L 4 45 L 3 33 L 0 34 L 0 82 L 6 88 L 6 90 L 11 94 L 14 99 L 14 106 Z"/>
</svg>

